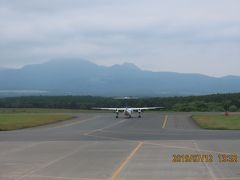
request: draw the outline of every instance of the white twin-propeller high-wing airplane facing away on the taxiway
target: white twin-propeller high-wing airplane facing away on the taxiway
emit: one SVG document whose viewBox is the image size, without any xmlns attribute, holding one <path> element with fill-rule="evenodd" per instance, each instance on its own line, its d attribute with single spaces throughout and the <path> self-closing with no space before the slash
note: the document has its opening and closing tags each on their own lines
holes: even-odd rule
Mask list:
<svg viewBox="0 0 240 180">
<path fill-rule="evenodd" d="M 129 98 L 129 97 L 125 97 L 124 98 L 125 100 L 127 99 L 132 99 L 132 98 Z M 127 106 L 127 102 L 126 102 L 126 107 L 125 108 L 94 108 L 94 109 L 100 109 L 100 110 L 110 110 L 110 111 L 115 111 L 116 112 L 116 118 L 119 117 L 119 112 L 123 112 L 123 114 L 125 116 L 128 116 L 129 118 L 132 117 L 132 114 L 134 112 L 138 112 L 138 118 L 141 118 L 141 112 L 143 110 L 150 110 L 150 109 L 161 109 L 161 108 L 164 108 L 164 107 L 142 107 L 142 108 L 130 108 Z"/>
</svg>

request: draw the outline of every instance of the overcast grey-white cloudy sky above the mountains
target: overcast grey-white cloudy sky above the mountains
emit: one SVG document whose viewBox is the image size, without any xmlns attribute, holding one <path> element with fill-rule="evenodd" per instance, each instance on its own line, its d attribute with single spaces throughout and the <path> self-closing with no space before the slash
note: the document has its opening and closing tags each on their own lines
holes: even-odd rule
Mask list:
<svg viewBox="0 0 240 180">
<path fill-rule="evenodd" d="M 0 0 L 0 67 L 56 58 L 240 75 L 239 0 Z"/>
</svg>

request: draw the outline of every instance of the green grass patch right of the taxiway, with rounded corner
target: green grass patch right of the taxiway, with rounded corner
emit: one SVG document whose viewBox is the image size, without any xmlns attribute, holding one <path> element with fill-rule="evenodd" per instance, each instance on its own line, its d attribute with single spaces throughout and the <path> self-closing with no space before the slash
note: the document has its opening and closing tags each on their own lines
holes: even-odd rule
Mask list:
<svg viewBox="0 0 240 180">
<path fill-rule="evenodd" d="M 192 119 L 204 129 L 240 130 L 240 115 L 194 115 Z"/>
</svg>

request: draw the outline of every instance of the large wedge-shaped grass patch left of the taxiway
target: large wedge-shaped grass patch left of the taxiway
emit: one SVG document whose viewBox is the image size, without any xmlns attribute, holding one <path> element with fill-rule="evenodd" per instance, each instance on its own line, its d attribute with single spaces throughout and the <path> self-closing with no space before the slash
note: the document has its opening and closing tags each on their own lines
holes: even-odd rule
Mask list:
<svg viewBox="0 0 240 180">
<path fill-rule="evenodd" d="M 0 114 L 0 131 L 35 127 L 71 119 L 60 114 Z"/>
</svg>

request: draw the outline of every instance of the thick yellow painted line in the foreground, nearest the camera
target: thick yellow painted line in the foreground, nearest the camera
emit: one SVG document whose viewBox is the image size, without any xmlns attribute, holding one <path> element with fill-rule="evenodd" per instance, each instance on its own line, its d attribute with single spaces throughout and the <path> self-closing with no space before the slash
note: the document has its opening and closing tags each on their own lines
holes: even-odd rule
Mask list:
<svg viewBox="0 0 240 180">
<path fill-rule="evenodd" d="M 132 152 L 128 155 L 128 157 L 121 163 L 121 165 L 117 168 L 116 171 L 112 174 L 109 180 L 115 180 L 123 168 L 127 165 L 127 163 L 133 158 L 133 156 L 138 152 L 138 150 L 142 147 L 143 142 L 139 142 L 138 145 L 132 150 Z"/>
</svg>

